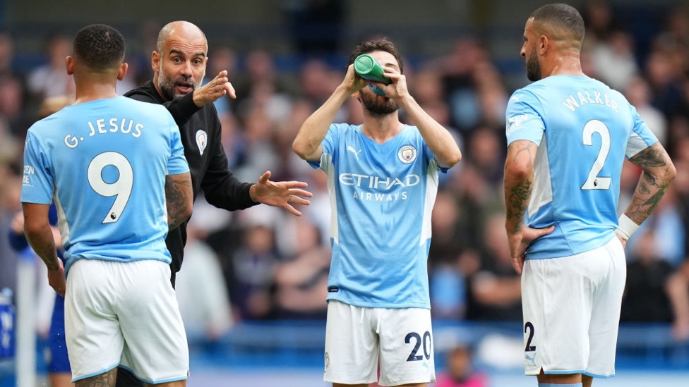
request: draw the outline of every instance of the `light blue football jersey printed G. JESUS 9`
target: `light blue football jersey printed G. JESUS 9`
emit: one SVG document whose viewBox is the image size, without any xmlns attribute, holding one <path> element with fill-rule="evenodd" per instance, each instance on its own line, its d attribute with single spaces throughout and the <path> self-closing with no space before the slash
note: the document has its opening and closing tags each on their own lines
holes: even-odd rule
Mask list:
<svg viewBox="0 0 689 387">
<path fill-rule="evenodd" d="M 165 175 L 188 171 L 164 106 L 100 99 L 31 126 L 21 201 L 54 200 L 67 271 L 77 259 L 169 263 Z"/>
</svg>

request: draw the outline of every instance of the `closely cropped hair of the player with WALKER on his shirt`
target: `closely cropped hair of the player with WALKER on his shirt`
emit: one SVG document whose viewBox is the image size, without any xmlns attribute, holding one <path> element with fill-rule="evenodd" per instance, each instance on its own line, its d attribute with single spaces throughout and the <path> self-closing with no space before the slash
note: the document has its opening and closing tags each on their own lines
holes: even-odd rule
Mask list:
<svg viewBox="0 0 689 387">
<path fill-rule="evenodd" d="M 581 49 L 584 40 L 584 20 L 579 11 L 568 4 L 546 4 L 529 17 L 533 28 L 546 35 L 561 49 Z"/>
</svg>

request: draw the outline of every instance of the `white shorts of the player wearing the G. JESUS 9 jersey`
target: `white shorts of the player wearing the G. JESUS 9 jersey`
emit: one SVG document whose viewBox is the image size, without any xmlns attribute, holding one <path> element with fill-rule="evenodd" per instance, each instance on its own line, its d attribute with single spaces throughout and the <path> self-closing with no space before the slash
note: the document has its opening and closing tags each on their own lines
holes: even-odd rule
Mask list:
<svg viewBox="0 0 689 387">
<path fill-rule="evenodd" d="M 80 259 L 65 295 L 72 381 L 124 367 L 146 383 L 184 380 L 189 350 L 162 261 Z"/>
</svg>

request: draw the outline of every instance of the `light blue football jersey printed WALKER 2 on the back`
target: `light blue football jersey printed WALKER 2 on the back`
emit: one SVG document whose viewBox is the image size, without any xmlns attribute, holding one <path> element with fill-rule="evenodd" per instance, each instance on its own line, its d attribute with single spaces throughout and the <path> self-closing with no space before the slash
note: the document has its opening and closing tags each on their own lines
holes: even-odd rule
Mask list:
<svg viewBox="0 0 689 387">
<path fill-rule="evenodd" d="M 508 144 L 539 145 L 525 224 L 556 226 L 526 258 L 566 257 L 613 238 L 625 156 L 658 141 L 634 106 L 598 80 L 552 75 L 517 90 L 506 119 Z"/>
</svg>

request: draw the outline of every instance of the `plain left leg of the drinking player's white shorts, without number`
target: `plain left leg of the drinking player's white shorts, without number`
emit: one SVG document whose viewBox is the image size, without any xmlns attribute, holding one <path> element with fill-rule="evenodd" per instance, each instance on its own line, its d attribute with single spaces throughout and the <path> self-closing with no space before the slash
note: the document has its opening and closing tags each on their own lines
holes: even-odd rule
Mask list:
<svg viewBox="0 0 689 387">
<path fill-rule="evenodd" d="M 330 300 L 325 323 L 323 381 L 368 384 L 378 380 L 374 309 Z"/>
</svg>

